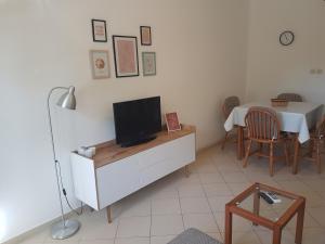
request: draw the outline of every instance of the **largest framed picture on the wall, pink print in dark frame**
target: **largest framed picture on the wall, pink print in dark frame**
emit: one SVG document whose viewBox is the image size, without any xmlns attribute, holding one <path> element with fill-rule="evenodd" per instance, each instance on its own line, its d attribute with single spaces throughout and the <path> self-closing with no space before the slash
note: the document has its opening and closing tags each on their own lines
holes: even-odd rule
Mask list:
<svg viewBox="0 0 325 244">
<path fill-rule="evenodd" d="M 113 48 L 116 77 L 139 76 L 136 37 L 113 36 Z"/>
</svg>

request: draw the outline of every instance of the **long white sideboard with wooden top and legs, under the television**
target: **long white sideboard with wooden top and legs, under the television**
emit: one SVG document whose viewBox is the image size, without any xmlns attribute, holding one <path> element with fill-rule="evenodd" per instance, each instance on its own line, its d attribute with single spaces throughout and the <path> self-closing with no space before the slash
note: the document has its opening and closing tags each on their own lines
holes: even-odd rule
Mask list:
<svg viewBox="0 0 325 244">
<path fill-rule="evenodd" d="M 93 158 L 72 152 L 75 195 L 95 210 L 106 208 L 112 222 L 112 205 L 158 179 L 195 162 L 195 127 L 156 134 L 147 143 L 121 147 L 115 141 L 95 145 Z"/>
</svg>

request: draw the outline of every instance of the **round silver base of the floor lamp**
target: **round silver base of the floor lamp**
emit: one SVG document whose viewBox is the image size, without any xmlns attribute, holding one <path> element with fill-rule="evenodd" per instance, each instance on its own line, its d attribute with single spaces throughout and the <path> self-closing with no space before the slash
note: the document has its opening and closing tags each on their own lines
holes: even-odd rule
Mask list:
<svg viewBox="0 0 325 244">
<path fill-rule="evenodd" d="M 52 239 L 54 240 L 63 240 L 73 236 L 78 232 L 80 228 L 80 222 L 78 220 L 65 220 L 65 226 L 63 221 L 54 223 L 52 226 Z"/>
</svg>

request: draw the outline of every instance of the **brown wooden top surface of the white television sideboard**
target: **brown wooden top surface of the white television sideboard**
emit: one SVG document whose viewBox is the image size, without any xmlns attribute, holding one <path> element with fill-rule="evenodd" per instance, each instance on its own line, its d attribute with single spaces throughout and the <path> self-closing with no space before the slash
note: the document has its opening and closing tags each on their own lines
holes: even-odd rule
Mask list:
<svg viewBox="0 0 325 244">
<path fill-rule="evenodd" d="M 115 143 L 115 140 L 107 141 L 94 145 L 96 147 L 96 154 L 94 155 L 93 158 L 90 159 L 93 160 L 95 168 L 100 168 L 104 165 L 114 163 L 116 160 L 120 160 L 122 158 L 129 157 L 136 153 L 172 141 L 174 139 L 185 137 L 191 133 L 195 133 L 195 131 L 196 129 L 194 126 L 186 126 L 186 125 L 182 125 L 181 130 L 172 131 L 172 132 L 168 132 L 166 129 L 164 129 L 162 131 L 156 134 L 157 136 L 156 139 L 143 144 L 133 145 L 129 147 L 121 147 L 120 145 Z"/>
</svg>

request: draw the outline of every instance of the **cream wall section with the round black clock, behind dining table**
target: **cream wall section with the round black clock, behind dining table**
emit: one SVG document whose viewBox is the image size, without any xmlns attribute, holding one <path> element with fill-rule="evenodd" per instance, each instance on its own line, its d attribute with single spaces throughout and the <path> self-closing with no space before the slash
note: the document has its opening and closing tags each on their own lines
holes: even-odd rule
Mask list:
<svg viewBox="0 0 325 244">
<path fill-rule="evenodd" d="M 247 100 L 298 92 L 325 103 L 325 2 L 323 0 L 250 0 Z M 282 47 L 290 29 L 296 40 Z M 311 75 L 314 68 L 322 75 Z"/>
</svg>

